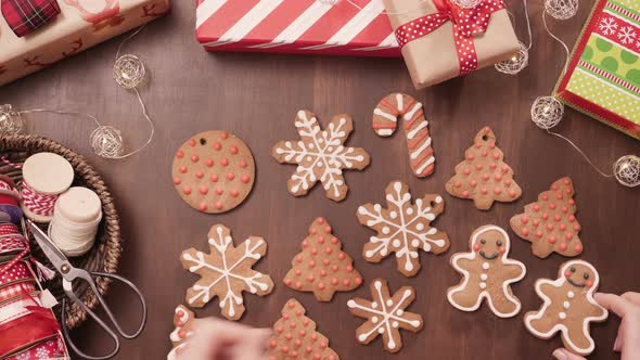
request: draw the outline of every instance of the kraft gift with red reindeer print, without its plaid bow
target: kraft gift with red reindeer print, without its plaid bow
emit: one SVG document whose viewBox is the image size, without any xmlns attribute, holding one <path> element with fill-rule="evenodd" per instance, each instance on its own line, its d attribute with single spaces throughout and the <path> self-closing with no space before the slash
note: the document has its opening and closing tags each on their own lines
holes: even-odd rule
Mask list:
<svg viewBox="0 0 640 360">
<path fill-rule="evenodd" d="M 57 0 L 51 23 L 18 38 L 0 14 L 0 86 L 140 26 L 169 0 Z"/>
</svg>

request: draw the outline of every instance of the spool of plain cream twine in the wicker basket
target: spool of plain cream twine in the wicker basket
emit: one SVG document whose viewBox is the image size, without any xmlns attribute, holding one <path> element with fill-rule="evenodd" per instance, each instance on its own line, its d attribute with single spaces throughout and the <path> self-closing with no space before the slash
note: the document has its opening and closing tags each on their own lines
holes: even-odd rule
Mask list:
<svg viewBox="0 0 640 360">
<path fill-rule="evenodd" d="M 67 256 L 87 253 L 95 242 L 102 203 L 93 191 L 74 187 L 55 202 L 49 237 Z"/>
</svg>

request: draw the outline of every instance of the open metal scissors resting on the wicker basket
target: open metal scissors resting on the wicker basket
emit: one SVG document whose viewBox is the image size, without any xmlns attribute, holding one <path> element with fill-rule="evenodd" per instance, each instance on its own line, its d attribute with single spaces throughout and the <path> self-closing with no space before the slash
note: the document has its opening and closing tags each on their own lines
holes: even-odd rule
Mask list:
<svg viewBox="0 0 640 360">
<path fill-rule="evenodd" d="M 29 229 L 31 230 L 31 233 L 34 234 L 34 237 L 36 239 L 36 242 L 38 243 L 38 245 L 40 245 L 40 248 L 42 249 L 44 255 L 49 258 L 49 260 L 51 261 L 51 263 L 53 265 L 55 270 L 62 275 L 62 288 L 64 290 L 64 293 L 66 294 L 66 296 L 72 301 L 76 303 L 82 310 L 85 310 L 89 314 L 89 317 L 91 319 L 93 319 L 100 325 L 100 327 L 102 327 L 108 334 L 108 336 L 113 339 L 115 347 L 113 348 L 113 350 L 108 355 L 101 356 L 101 357 L 92 357 L 92 356 L 86 355 L 85 352 L 80 351 L 76 347 L 74 342 L 72 342 L 72 339 L 68 335 L 68 330 L 66 329 L 65 311 L 64 311 L 65 299 L 63 298 L 62 311 L 61 311 L 62 312 L 61 322 L 62 322 L 62 330 L 64 333 L 64 337 L 67 342 L 67 345 L 69 345 L 71 348 L 77 355 L 79 355 L 80 357 L 86 358 L 86 359 L 103 360 L 103 359 L 111 359 L 111 358 L 115 357 L 115 355 L 120 349 L 120 340 L 118 339 L 116 332 L 124 338 L 132 339 L 132 338 L 136 338 L 138 335 L 140 335 L 140 333 L 142 333 L 142 330 L 144 329 L 144 325 L 146 323 L 146 301 L 144 300 L 144 296 L 142 295 L 142 292 L 132 282 L 130 282 L 129 280 L 127 280 L 123 277 L 119 277 L 119 275 L 116 275 L 113 273 L 105 273 L 105 272 L 89 272 L 84 269 L 75 268 L 69 262 L 67 257 L 62 253 L 62 250 L 60 250 L 60 248 L 51 241 L 51 239 L 49 239 L 49 236 L 42 230 L 40 230 L 40 228 L 38 228 L 30 220 L 28 220 L 27 222 L 28 222 Z M 117 281 L 126 284 L 127 286 L 129 286 L 131 290 L 133 290 L 136 292 L 136 294 L 139 297 L 140 304 L 142 305 L 142 321 L 140 322 L 140 327 L 138 327 L 138 331 L 136 331 L 132 334 L 125 333 L 125 331 L 121 329 L 120 324 L 117 322 L 114 314 L 112 313 L 111 309 L 108 308 L 108 306 L 106 305 L 106 303 L 102 298 L 102 295 L 100 295 L 98 287 L 95 287 L 95 281 L 93 280 L 93 278 L 95 278 L 95 277 L 103 277 L 103 278 L 110 278 L 113 280 L 117 280 Z M 73 286 L 74 280 L 84 280 L 89 284 L 89 286 L 93 291 L 93 294 L 95 295 L 95 298 L 98 298 L 98 301 L 100 303 L 100 305 L 104 309 L 104 312 L 106 312 L 108 319 L 115 325 L 115 329 L 116 329 L 115 332 L 102 319 L 100 319 L 95 314 L 95 312 L 93 312 L 91 309 L 89 309 L 89 307 L 87 307 L 85 305 L 85 303 L 82 303 L 80 300 L 80 298 L 76 295 L 76 293 L 74 292 L 74 286 Z"/>
</svg>

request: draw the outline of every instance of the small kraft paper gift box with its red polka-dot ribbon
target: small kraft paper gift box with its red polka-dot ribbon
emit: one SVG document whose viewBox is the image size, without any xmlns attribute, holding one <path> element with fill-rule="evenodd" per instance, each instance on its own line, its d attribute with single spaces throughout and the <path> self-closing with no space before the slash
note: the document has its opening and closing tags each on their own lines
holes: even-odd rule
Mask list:
<svg viewBox="0 0 640 360">
<path fill-rule="evenodd" d="M 410 38 L 410 34 L 405 34 L 405 36 L 409 37 L 409 42 L 406 44 L 401 46 L 402 41 L 400 41 L 402 56 L 417 89 L 443 82 L 473 69 L 491 66 L 512 57 L 520 49 L 507 10 L 489 11 L 489 8 L 494 7 L 489 4 L 501 4 L 501 1 L 489 2 L 488 0 L 482 0 L 478 4 L 478 9 L 486 13 L 490 12 L 490 15 L 486 30 L 471 36 L 472 46 L 464 46 L 463 41 L 460 41 L 461 39 L 455 36 L 453 22 L 461 21 L 450 17 L 443 20 L 441 25 L 431 28 L 427 26 L 431 33 L 424 31 L 428 34 L 419 36 L 420 31 L 423 30 L 422 26 L 419 26 L 423 24 L 420 21 L 421 18 L 424 23 L 427 21 L 434 22 L 435 17 L 439 15 L 441 15 L 440 18 L 446 18 L 451 13 L 458 13 L 461 10 L 465 11 L 465 9 L 453 5 L 446 0 L 383 0 L 383 2 L 397 35 L 401 35 L 398 34 L 398 28 L 404 28 L 405 31 L 410 30 L 411 34 L 414 34 L 413 30 L 418 31 L 414 39 Z M 431 18 L 427 18 L 427 15 L 432 15 Z M 462 15 L 462 18 L 464 18 L 464 13 Z M 486 23 L 484 18 L 479 21 Z M 411 26 L 412 22 L 414 22 L 414 26 Z M 469 27 L 464 24 L 460 24 L 460 26 Z M 469 51 L 468 55 L 471 54 L 476 57 L 477 63 L 475 64 L 470 60 L 472 65 L 470 68 L 461 68 L 468 60 L 461 61 L 465 55 L 462 52 L 458 53 L 458 41 L 463 46 L 460 49 L 461 51 Z M 470 49 L 466 50 L 465 48 Z"/>
</svg>

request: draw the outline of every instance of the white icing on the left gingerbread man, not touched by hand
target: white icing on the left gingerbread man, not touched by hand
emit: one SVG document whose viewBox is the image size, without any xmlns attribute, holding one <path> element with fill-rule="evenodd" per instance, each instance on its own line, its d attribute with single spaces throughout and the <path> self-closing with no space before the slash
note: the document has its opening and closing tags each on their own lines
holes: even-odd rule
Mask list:
<svg viewBox="0 0 640 360">
<path fill-rule="evenodd" d="M 482 292 L 479 292 L 477 299 L 475 301 L 475 304 L 471 307 L 465 307 L 462 306 L 458 303 L 456 303 L 456 300 L 453 300 L 453 295 L 460 292 L 463 292 L 466 290 L 466 286 L 469 284 L 469 281 L 471 280 L 471 273 L 469 272 L 469 270 L 465 270 L 463 268 L 460 267 L 459 261 L 461 259 L 466 259 L 466 260 L 473 260 L 476 258 L 476 252 L 470 252 L 470 253 L 459 253 L 459 254 L 455 254 L 451 257 L 451 266 L 453 267 L 453 269 L 456 269 L 456 271 L 458 271 L 459 273 L 461 273 L 464 279 L 463 281 L 460 283 L 460 285 L 452 287 L 451 290 L 449 290 L 447 292 L 447 299 L 449 300 L 449 303 L 456 307 L 459 310 L 462 311 L 475 311 L 477 310 L 482 303 L 483 299 L 487 299 L 487 304 L 489 305 L 489 308 L 491 309 L 491 311 L 494 311 L 494 313 L 500 318 L 511 318 L 514 317 L 515 314 L 517 314 L 521 310 L 522 304 L 520 303 L 520 300 L 517 299 L 517 297 L 515 297 L 510 291 L 509 291 L 509 286 L 515 282 L 521 281 L 525 274 L 526 274 L 526 267 L 524 266 L 524 263 L 514 260 L 514 259 L 510 259 L 508 258 L 509 256 L 509 250 L 511 247 L 511 241 L 509 240 L 509 235 L 507 234 L 507 232 L 500 228 L 500 227 L 496 227 L 496 226 L 486 226 L 484 227 L 484 229 L 482 231 L 476 232 L 473 237 L 471 239 L 471 248 L 473 248 L 473 246 L 475 245 L 475 243 L 477 241 L 479 241 L 479 236 L 482 234 L 485 234 L 486 232 L 489 231 L 497 231 L 502 235 L 503 242 L 504 242 L 504 253 L 502 253 L 502 255 L 500 256 L 500 262 L 503 265 L 511 265 L 511 266 L 517 266 L 522 271 L 521 273 L 512 279 L 504 279 L 504 281 L 502 282 L 502 298 L 511 304 L 513 304 L 515 306 L 515 309 L 511 312 L 504 313 L 504 312 L 500 312 L 495 306 L 494 306 L 494 299 L 491 298 L 491 295 L 488 291 L 486 291 L 485 288 L 487 287 L 487 284 L 484 282 L 479 283 L 479 287 L 483 288 Z M 489 262 L 485 261 L 482 265 L 484 270 L 488 270 L 490 268 Z"/>
</svg>

